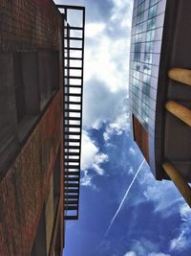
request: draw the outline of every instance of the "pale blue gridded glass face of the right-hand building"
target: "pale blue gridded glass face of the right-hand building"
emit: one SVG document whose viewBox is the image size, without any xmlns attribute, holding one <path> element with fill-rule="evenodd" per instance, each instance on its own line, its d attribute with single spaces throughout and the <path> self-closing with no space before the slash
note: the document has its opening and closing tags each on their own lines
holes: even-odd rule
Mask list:
<svg viewBox="0 0 191 256">
<path fill-rule="evenodd" d="M 165 6 L 166 0 L 136 0 L 132 20 L 130 105 L 134 124 L 139 123 L 137 127 L 144 133 L 144 141 L 138 146 L 150 164 L 155 158 L 153 138 Z"/>
</svg>

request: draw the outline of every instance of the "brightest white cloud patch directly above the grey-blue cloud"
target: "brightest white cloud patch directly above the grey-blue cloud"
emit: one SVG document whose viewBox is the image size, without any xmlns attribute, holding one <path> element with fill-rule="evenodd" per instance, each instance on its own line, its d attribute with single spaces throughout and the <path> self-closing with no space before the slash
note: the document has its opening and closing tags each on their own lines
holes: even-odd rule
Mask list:
<svg viewBox="0 0 191 256">
<path fill-rule="evenodd" d="M 86 46 L 85 81 L 98 78 L 113 92 L 127 89 L 129 51 L 127 40 L 118 38 L 114 43 L 114 38 L 100 33 Z"/>
</svg>

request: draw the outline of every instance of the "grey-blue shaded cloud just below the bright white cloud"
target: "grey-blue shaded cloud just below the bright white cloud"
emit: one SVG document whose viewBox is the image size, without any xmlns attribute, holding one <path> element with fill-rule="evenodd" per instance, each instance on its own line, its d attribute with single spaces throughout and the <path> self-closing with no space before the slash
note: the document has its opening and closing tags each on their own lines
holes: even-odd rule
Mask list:
<svg viewBox="0 0 191 256">
<path fill-rule="evenodd" d="M 87 83 L 84 87 L 84 128 L 100 128 L 104 123 L 119 124 L 119 121 L 124 123 L 126 119 L 119 116 L 125 105 L 126 94 L 126 90 L 111 92 L 104 82 L 98 80 Z"/>
</svg>

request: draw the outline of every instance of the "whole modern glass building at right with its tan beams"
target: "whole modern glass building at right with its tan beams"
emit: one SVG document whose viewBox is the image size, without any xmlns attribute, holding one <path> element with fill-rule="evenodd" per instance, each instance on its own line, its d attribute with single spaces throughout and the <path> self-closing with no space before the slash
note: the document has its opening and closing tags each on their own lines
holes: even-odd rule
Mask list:
<svg viewBox="0 0 191 256">
<path fill-rule="evenodd" d="M 134 140 L 191 206 L 190 12 L 191 1 L 134 1 L 129 88 Z"/>
</svg>

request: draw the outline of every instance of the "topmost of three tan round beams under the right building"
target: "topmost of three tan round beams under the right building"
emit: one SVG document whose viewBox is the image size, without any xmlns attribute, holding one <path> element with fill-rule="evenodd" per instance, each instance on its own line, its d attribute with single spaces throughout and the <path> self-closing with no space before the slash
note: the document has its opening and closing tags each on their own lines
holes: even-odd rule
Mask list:
<svg viewBox="0 0 191 256">
<path fill-rule="evenodd" d="M 183 68 L 172 68 L 168 71 L 168 77 L 174 81 L 180 81 L 191 85 L 191 70 Z"/>
</svg>

